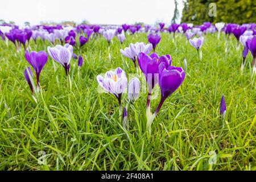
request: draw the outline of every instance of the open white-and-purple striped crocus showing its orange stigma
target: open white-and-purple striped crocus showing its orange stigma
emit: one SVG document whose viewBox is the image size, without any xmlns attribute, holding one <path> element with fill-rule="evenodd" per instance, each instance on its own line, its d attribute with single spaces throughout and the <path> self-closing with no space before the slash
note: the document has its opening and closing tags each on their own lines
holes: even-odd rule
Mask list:
<svg viewBox="0 0 256 182">
<path fill-rule="evenodd" d="M 115 71 L 108 71 L 105 73 L 105 76 L 97 76 L 98 84 L 106 92 L 113 94 L 119 103 L 119 110 L 122 111 L 121 97 L 122 93 L 127 88 L 127 77 L 125 71 L 121 68 L 116 68 Z"/>
</svg>

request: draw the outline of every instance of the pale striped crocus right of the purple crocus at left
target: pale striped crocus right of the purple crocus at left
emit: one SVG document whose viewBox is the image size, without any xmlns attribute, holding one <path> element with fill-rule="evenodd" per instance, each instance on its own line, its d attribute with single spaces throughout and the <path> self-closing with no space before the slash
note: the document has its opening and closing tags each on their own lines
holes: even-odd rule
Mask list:
<svg viewBox="0 0 256 182">
<path fill-rule="evenodd" d="M 60 63 L 64 69 L 66 76 L 68 76 L 69 63 L 73 56 L 73 46 L 65 44 L 64 46 L 57 45 L 55 47 L 47 47 L 49 56 L 58 63 Z"/>
</svg>

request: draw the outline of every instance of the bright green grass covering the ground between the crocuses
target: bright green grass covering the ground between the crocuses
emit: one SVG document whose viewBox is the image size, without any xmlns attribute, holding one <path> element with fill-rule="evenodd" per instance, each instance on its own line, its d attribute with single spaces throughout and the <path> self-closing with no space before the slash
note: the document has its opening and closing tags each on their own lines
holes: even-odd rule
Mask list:
<svg viewBox="0 0 256 182">
<path fill-rule="evenodd" d="M 114 38 L 109 51 L 104 38 L 90 40 L 81 51 L 85 59 L 80 77 L 77 61 L 71 61 L 72 88 L 63 67 L 55 63 L 55 72 L 48 57 L 37 103 L 23 76 L 28 67 L 24 52 L 0 41 L 0 169 L 256 170 L 252 56 L 248 54 L 241 73 L 242 47 L 237 51 L 232 37 L 225 53 L 225 40 L 225 35 L 220 41 L 217 34 L 205 35 L 203 60 L 198 61 L 196 49 L 184 37 L 177 36 L 173 43 L 169 34 L 162 34 L 156 53 L 170 54 L 172 65 L 179 67 L 184 67 L 185 57 L 188 70 L 152 123 L 151 135 L 144 131 L 146 93 L 131 105 L 127 132 L 119 121 L 117 99 L 98 93 L 96 81 L 98 74 L 117 67 L 136 73 L 119 49 L 147 43 L 146 34 L 127 36 L 123 45 Z M 40 41 L 31 41 L 31 48 L 46 49 Z M 219 114 L 222 94 L 225 122 Z M 122 99 L 126 101 L 127 95 Z M 151 101 L 151 111 L 159 100 L 160 96 Z M 38 163 L 39 151 L 45 152 L 47 164 Z M 217 154 L 216 164 L 208 162 L 211 151 Z"/>
</svg>

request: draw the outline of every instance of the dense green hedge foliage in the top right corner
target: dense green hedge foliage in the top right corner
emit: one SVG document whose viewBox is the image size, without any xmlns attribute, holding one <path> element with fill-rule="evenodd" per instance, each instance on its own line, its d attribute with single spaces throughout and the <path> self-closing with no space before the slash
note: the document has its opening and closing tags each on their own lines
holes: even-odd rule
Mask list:
<svg viewBox="0 0 256 182">
<path fill-rule="evenodd" d="M 217 16 L 209 16 L 209 4 L 216 4 Z M 184 2 L 182 22 L 255 23 L 255 0 L 187 0 Z"/>
</svg>

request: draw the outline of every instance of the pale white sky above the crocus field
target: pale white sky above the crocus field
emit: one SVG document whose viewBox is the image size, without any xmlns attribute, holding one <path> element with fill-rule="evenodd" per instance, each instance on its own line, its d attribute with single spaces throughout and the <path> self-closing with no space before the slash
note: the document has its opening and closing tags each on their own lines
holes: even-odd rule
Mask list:
<svg viewBox="0 0 256 182">
<path fill-rule="evenodd" d="M 179 12 L 183 2 L 178 0 Z M 73 20 L 92 24 L 122 24 L 161 21 L 170 24 L 174 14 L 174 0 L 6 0 L 0 5 L 0 19 L 39 24 Z"/>
</svg>

